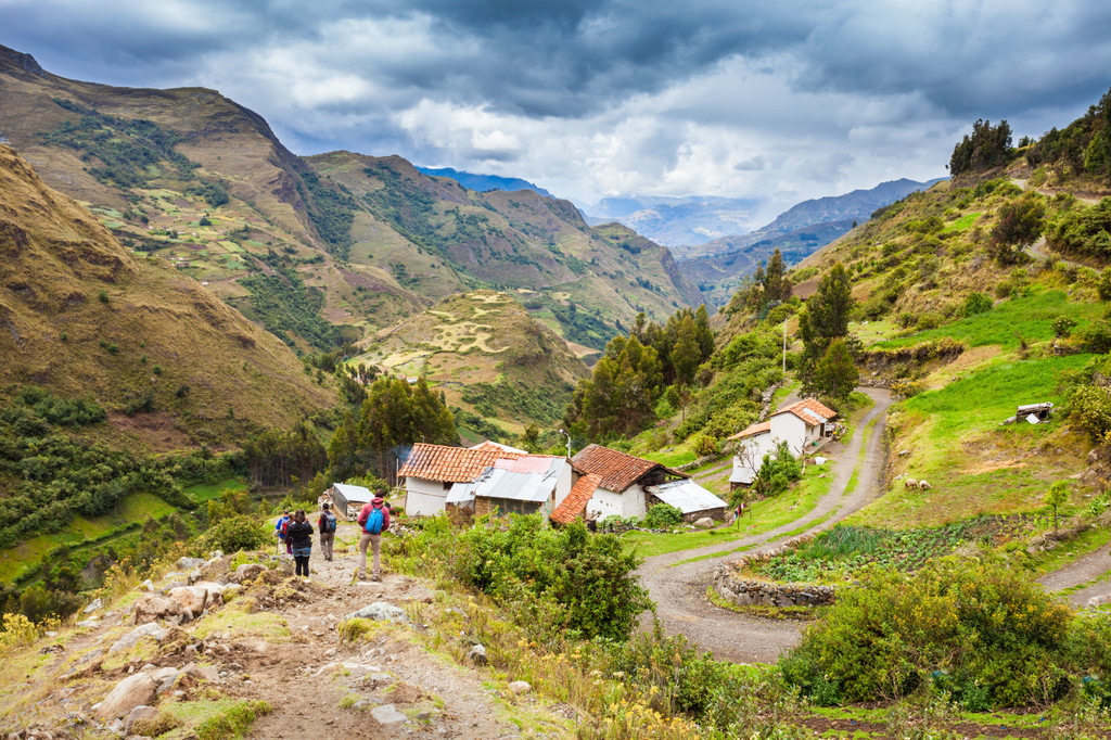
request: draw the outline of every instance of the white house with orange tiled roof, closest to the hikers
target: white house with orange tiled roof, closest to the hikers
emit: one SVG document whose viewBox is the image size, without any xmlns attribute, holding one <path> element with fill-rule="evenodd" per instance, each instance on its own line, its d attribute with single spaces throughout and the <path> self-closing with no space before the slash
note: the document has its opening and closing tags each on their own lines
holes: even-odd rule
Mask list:
<svg viewBox="0 0 1111 740">
<path fill-rule="evenodd" d="M 492 442 L 472 448 L 414 444 L 398 470 L 398 484 L 406 491 L 406 513 L 410 517 L 440 513 L 452 486 L 476 480 L 498 460 L 521 457 L 522 453 L 511 450 Z"/>
</svg>

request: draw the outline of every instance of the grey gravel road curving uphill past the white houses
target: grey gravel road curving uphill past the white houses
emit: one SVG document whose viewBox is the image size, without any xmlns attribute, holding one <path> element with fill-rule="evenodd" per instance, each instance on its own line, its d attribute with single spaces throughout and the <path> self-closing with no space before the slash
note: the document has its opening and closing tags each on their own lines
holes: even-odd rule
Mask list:
<svg viewBox="0 0 1111 740">
<path fill-rule="evenodd" d="M 730 551 L 744 546 L 754 546 L 745 554 L 764 551 L 774 547 L 774 541 L 787 532 L 795 531 L 829 516 L 828 519 L 805 530 L 821 531 L 877 498 L 880 472 L 883 468 L 883 427 L 888 407 L 891 406 L 891 394 L 887 390 L 875 388 L 861 390 L 871 397 L 875 404 L 857 424 L 848 444 L 834 443 L 824 451 L 828 457 L 837 458 L 832 470 L 835 478 L 830 492 L 819 500 L 812 510 L 763 534 L 694 550 L 670 552 L 644 561 L 638 572 L 641 582 L 655 601 L 657 616 L 669 634 L 684 634 L 700 648 L 713 652 L 715 657 L 735 662 L 772 662 L 781 651 L 798 642 L 800 627 L 797 622 L 754 619 L 715 607 L 707 600 L 705 590 L 718 563 L 725 558 L 735 557 L 730 556 Z M 873 420 L 875 423 L 868 438 L 868 448 L 864 450 L 857 487 L 845 494 L 845 488 L 860 459 L 864 429 Z M 679 564 L 683 560 L 704 556 L 711 557 Z M 645 617 L 643 621 L 647 622 L 648 619 Z"/>
</svg>

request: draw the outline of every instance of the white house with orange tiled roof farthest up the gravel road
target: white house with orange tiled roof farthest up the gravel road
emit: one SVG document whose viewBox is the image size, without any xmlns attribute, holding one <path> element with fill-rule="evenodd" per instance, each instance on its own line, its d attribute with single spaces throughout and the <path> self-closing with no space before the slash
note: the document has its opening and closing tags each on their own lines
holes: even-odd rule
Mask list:
<svg viewBox="0 0 1111 740">
<path fill-rule="evenodd" d="M 752 483 L 764 456 L 774 454 L 780 442 L 787 442 L 794 457 L 820 449 L 833 438 L 834 418 L 837 411 L 817 399 L 807 398 L 733 434 L 728 440 L 737 442 L 729 482 L 734 488 Z"/>
</svg>

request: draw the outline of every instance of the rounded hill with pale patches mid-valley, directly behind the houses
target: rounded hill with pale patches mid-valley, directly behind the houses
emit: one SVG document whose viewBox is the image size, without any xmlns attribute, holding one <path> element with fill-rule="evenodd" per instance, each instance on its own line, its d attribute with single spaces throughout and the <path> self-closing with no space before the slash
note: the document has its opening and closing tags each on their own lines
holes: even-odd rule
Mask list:
<svg viewBox="0 0 1111 740">
<path fill-rule="evenodd" d="M 351 363 L 423 374 L 448 404 L 519 434 L 558 424 L 585 366 L 512 297 L 491 290 L 452 296 L 364 340 Z M 466 419 L 464 419 L 466 431 Z M 489 430 L 488 430 L 489 431 Z"/>
</svg>

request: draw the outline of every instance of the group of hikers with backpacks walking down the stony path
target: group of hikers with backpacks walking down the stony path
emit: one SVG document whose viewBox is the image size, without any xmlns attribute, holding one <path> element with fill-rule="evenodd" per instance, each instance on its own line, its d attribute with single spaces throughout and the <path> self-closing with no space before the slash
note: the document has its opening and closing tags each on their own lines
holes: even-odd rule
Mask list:
<svg viewBox="0 0 1111 740">
<path fill-rule="evenodd" d="M 390 504 L 380 496 L 363 504 L 357 519 L 362 537 L 359 539 L 359 579 L 367 578 L 367 549 L 370 548 L 373 554 L 373 570 L 370 580 L 380 581 L 382 579 L 382 532 L 390 528 Z M 331 506 L 324 502 L 321 506 L 320 518 L 317 520 L 317 529 L 313 530 L 309 522 L 304 509 L 298 509 L 290 516 L 289 509 L 282 511 L 274 524 L 274 533 L 278 536 L 278 554 L 281 554 L 284 547 L 286 553 L 293 556 L 297 564 L 297 576 L 309 577 L 309 557 L 312 554 L 313 531 L 320 532 L 320 551 L 324 560 L 332 559 L 332 544 L 336 541 L 336 527 L 339 523 Z"/>
</svg>

